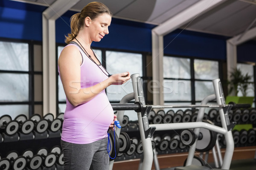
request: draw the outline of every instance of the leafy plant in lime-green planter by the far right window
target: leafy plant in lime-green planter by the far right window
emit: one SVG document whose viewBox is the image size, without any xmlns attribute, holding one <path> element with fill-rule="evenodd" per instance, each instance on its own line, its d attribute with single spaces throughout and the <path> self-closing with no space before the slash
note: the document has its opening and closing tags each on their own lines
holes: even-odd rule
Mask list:
<svg viewBox="0 0 256 170">
<path fill-rule="evenodd" d="M 229 94 L 234 94 L 235 96 L 227 96 L 226 103 L 235 102 L 235 103 L 248 103 L 252 105 L 254 97 L 247 96 L 247 90 L 249 88 L 250 79 L 252 76 L 247 74 L 242 74 L 239 68 L 233 69 L 233 72 L 230 75 L 230 80 L 228 81 L 229 85 Z M 238 96 L 238 92 L 241 91 L 242 96 Z"/>
</svg>

